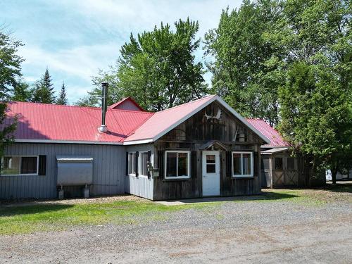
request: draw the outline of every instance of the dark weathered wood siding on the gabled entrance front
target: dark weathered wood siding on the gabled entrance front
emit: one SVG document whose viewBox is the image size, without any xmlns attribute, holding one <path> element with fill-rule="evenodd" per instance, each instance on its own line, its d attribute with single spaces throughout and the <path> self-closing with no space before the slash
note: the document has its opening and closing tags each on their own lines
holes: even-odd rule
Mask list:
<svg viewBox="0 0 352 264">
<path fill-rule="evenodd" d="M 211 118 L 206 120 L 207 115 L 215 116 L 218 109 L 222 111 L 221 120 Z M 238 130 L 246 133 L 246 141 L 238 142 L 236 132 Z M 199 111 L 191 118 L 182 122 L 174 130 L 165 134 L 155 144 L 154 164 L 158 168 L 165 168 L 165 151 L 188 150 L 191 156 L 196 155 L 195 162 L 191 162 L 191 177 L 182 180 L 165 179 L 164 170 L 160 176 L 154 178 L 153 199 L 188 199 L 202 197 L 202 151 L 201 146 L 207 142 L 217 140 L 226 146 L 225 149 L 215 147 L 220 151 L 220 195 L 249 195 L 260 193 L 260 145 L 263 141 L 253 134 L 247 127 L 227 112 L 218 103 L 214 102 L 205 109 Z M 254 176 L 246 178 L 234 178 L 229 174 L 228 167 L 232 163 L 227 161 L 226 153 L 230 151 L 252 151 L 254 160 Z M 160 156 L 163 156 L 162 158 Z M 191 157 L 192 160 L 192 157 Z M 196 170 L 194 170 L 196 167 Z M 230 169 L 231 171 L 231 169 Z"/>
</svg>

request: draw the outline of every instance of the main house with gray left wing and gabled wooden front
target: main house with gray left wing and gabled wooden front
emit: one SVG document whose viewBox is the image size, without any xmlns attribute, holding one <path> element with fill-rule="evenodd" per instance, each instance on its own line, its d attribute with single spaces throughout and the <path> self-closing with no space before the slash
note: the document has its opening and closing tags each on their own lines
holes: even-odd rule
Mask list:
<svg viewBox="0 0 352 264">
<path fill-rule="evenodd" d="M 260 146 L 270 140 L 219 96 L 156 113 L 130 98 L 103 108 L 8 103 L 8 122 L 15 115 L 1 199 L 260 193 Z"/>
</svg>

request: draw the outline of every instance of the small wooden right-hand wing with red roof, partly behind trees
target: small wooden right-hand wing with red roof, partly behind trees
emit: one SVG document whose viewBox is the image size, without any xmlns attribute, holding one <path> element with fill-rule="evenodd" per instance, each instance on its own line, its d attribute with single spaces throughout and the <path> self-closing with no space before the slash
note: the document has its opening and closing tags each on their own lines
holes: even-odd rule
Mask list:
<svg viewBox="0 0 352 264">
<path fill-rule="evenodd" d="M 247 119 L 265 137 L 269 144 L 261 146 L 261 180 L 263 188 L 314 187 L 325 184 L 324 175 L 314 175 L 310 157 L 301 153 L 291 155 L 281 134 L 267 122 L 260 119 Z"/>
</svg>

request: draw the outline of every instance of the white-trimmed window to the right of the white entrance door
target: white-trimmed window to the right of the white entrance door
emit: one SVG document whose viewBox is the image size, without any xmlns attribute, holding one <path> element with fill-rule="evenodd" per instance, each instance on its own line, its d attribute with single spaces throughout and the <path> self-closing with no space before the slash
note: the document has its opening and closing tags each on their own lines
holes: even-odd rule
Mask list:
<svg viewBox="0 0 352 264">
<path fill-rule="evenodd" d="M 232 152 L 232 176 L 253 177 L 253 152 Z"/>
</svg>

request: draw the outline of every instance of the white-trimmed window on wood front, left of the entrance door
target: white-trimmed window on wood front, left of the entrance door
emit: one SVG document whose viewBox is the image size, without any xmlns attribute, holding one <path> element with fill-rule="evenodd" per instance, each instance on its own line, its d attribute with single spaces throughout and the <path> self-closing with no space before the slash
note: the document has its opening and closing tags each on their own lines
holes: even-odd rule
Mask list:
<svg viewBox="0 0 352 264">
<path fill-rule="evenodd" d="M 190 151 L 165 151 L 165 178 L 189 178 Z"/>
</svg>

